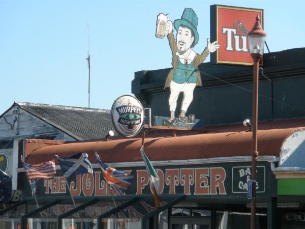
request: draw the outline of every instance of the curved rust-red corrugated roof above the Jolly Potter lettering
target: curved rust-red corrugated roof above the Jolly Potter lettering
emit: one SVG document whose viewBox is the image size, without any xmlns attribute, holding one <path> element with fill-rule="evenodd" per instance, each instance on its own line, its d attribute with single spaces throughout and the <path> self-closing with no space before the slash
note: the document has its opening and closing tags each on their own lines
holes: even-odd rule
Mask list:
<svg viewBox="0 0 305 229">
<path fill-rule="evenodd" d="M 226 125 L 208 127 L 209 132 L 177 137 L 145 137 L 144 150 L 152 161 L 188 160 L 215 157 L 236 157 L 252 155 L 252 132 L 247 127 Z M 280 156 L 281 147 L 287 137 L 297 130 L 305 129 L 305 120 L 260 123 L 258 130 L 258 152 L 260 156 Z M 38 163 L 54 158 L 68 157 L 86 152 L 89 160 L 96 163 L 95 151 L 105 163 L 141 161 L 142 139 L 124 138 L 110 141 L 73 142 L 43 147 L 33 151 L 26 161 Z"/>
</svg>

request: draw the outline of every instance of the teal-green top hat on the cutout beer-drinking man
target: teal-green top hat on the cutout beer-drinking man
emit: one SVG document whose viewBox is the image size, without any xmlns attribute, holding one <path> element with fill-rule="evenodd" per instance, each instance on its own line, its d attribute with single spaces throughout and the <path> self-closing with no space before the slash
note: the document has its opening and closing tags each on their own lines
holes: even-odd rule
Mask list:
<svg viewBox="0 0 305 229">
<path fill-rule="evenodd" d="M 174 27 L 176 31 L 179 30 L 180 25 L 184 25 L 194 32 L 195 44 L 197 44 L 199 40 L 199 34 L 197 32 L 198 17 L 193 9 L 186 8 L 182 14 L 181 19 L 176 19 L 174 21 Z"/>
</svg>

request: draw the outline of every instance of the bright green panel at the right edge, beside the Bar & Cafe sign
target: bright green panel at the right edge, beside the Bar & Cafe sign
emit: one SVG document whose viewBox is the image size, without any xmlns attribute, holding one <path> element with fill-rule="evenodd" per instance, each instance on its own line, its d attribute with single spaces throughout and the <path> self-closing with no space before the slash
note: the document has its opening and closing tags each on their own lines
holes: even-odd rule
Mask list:
<svg viewBox="0 0 305 229">
<path fill-rule="evenodd" d="M 305 195 L 305 179 L 278 179 L 278 195 Z"/>
</svg>

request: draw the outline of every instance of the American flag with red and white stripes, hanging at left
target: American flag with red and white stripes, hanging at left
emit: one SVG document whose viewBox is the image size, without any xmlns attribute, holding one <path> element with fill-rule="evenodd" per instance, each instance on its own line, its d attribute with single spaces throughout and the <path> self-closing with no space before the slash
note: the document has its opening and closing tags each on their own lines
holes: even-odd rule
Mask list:
<svg viewBox="0 0 305 229">
<path fill-rule="evenodd" d="M 54 160 L 40 164 L 23 163 L 23 166 L 28 180 L 52 179 L 56 174 Z"/>
</svg>

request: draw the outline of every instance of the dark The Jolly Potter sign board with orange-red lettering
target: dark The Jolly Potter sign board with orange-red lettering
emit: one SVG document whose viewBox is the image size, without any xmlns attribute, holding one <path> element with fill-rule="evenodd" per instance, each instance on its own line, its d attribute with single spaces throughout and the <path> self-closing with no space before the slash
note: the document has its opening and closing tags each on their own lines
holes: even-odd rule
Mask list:
<svg viewBox="0 0 305 229">
<path fill-rule="evenodd" d="M 186 194 L 206 196 L 233 196 L 241 195 L 247 197 L 247 180 L 251 177 L 251 165 L 236 163 L 204 164 L 188 166 L 155 166 L 160 178 L 161 194 Z M 265 163 L 257 167 L 257 194 L 266 194 L 270 190 L 266 187 L 265 180 L 271 176 L 270 164 Z M 127 174 L 134 176 L 126 195 L 142 195 L 152 193 L 149 185 L 149 178 L 144 167 L 117 168 Z M 26 179 L 24 177 L 24 179 Z M 276 179 L 268 178 L 270 184 Z M 26 181 L 24 181 L 26 182 Z M 110 186 L 105 182 L 101 171 L 96 169 L 93 174 L 83 174 L 68 178 L 71 194 L 73 196 L 109 196 Z M 62 196 L 68 195 L 65 178 L 60 170 L 56 177 L 51 180 L 39 180 L 37 182 L 37 196 Z M 276 187 L 276 183 L 273 185 Z M 27 187 L 26 187 L 27 188 Z M 31 190 L 23 190 L 23 196 L 31 197 Z"/>
</svg>

